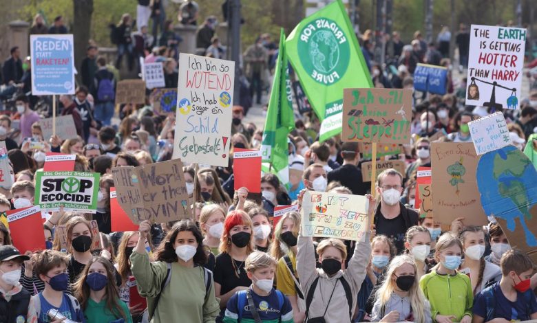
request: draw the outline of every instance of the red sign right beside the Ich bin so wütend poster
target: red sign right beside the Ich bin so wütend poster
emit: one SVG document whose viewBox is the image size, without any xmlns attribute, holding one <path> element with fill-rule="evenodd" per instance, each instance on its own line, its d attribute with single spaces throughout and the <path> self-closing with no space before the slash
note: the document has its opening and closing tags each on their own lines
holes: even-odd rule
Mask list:
<svg viewBox="0 0 537 323">
<path fill-rule="evenodd" d="M 260 193 L 261 151 L 234 148 L 233 174 L 235 190 L 245 187 L 251 193 Z"/>
</svg>

